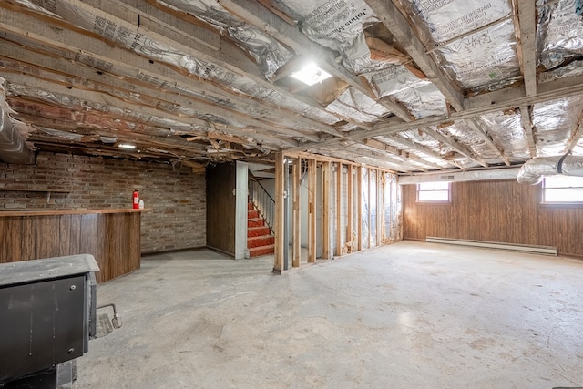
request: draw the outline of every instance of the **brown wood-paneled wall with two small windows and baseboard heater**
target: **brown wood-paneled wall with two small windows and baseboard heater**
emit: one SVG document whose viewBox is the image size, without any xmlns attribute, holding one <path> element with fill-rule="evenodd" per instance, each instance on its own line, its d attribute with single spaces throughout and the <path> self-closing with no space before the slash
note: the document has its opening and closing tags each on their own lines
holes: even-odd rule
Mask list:
<svg viewBox="0 0 583 389">
<path fill-rule="evenodd" d="M 454 182 L 449 204 L 416 202 L 403 186 L 404 239 L 427 236 L 555 246 L 583 257 L 583 208 L 539 203 L 540 185 L 515 180 Z"/>
</svg>

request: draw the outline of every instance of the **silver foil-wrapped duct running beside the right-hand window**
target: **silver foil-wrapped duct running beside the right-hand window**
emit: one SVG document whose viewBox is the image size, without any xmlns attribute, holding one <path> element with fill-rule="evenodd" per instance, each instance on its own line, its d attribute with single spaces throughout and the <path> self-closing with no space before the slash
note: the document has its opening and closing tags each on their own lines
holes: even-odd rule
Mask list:
<svg viewBox="0 0 583 389">
<path fill-rule="evenodd" d="M 518 170 L 517 181 L 521 184 L 537 185 L 545 176 L 557 174 L 583 177 L 583 157 L 565 154 L 530 159 Z"/>
</svg>

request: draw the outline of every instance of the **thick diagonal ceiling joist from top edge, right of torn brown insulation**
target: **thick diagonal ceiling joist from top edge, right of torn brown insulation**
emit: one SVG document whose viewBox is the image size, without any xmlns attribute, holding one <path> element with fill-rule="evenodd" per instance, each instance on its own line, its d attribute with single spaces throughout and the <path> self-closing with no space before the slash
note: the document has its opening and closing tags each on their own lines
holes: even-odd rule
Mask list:
<svg viewBox="0 0 583 389">
<path fill-rule="evenodd" d="M 441 68 L 435 63 L 431 56 L 425 54 L 425 46 L 414 34 L 413 29 L 401 14 L 401 11 L 391 0 L 365 0 L 381 20 L 384 26 L 393 34 L 399 44 L 404 46 L 404 50 L 414 63 L 424 72 L 425 76 L 434 83 L 435 87 L 444 94 L 445 99 L 456 111 L 464 108 L 464 97 L 450 80 L 445 77 Z"/>
</svg>

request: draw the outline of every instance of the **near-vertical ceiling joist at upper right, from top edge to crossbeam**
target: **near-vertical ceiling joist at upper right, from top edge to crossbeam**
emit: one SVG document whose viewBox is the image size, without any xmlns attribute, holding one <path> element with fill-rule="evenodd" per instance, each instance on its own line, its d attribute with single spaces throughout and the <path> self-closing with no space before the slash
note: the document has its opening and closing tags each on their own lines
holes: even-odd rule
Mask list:
<svg viewBox="0 0 583 389">
<path fill-rule="evenodd" d="M 537 14 L 534 1 L 514 0 L 518 8 L 517 52 L 527 97 L 537 94 Z"/>
</svg>

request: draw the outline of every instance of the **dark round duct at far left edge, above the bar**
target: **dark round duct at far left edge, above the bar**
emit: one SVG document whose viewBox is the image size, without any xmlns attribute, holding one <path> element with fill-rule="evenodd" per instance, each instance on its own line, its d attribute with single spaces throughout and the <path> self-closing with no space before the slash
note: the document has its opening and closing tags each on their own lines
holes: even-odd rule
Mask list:
<svg viewBox="0 0 583 389">
<path fill-rule="evenodd" d="M 4 84 L 4 81 L 0 77 L 0 84 Z M 0 86 L 0 160 L 6 163 L 32 165 L 35 163 L 35 152 L 28 147 L 22 135 L 30 129 L 30 126 L 10 118 L 9 110 L 4 87 Z"/>
</svg>

